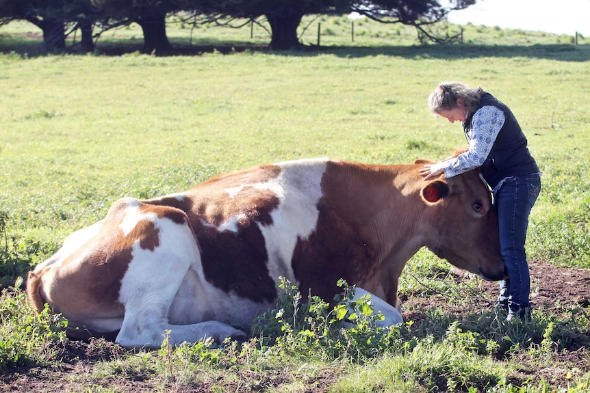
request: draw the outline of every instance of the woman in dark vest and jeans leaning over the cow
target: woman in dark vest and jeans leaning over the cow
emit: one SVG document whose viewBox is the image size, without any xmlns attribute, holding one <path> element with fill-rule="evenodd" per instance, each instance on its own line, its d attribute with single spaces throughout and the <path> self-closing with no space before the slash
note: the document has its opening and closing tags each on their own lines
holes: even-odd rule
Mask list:
<svg viewBox="0 0 590 393">
<path fill-rule="evenodd" d="M 515 316 L 530 317 L 530 275 L 524 250 L 528 215 L 541 191 L 541 172 L 528 152 L 526 137 L 512 111 L 480 87 L 441 83 L 428 97 L 431 112 L 463 124 L 469 149 L 455 159 L 426 164 L 424 180 L 456 176 L 476 167 L 492 189 L 498 208 L 500 247 L 508 278 L 500 282 L 498 305 Z"/>
</svg>

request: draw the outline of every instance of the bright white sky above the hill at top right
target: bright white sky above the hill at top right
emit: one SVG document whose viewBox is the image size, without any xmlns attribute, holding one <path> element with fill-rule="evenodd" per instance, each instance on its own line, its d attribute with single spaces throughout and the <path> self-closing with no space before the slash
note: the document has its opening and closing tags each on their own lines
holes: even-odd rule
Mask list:
<svg viewBox="0 0 590 393">
<path fill-rule="evenodd" d="M 590 37 L 590 0 L 478 0 L 449 14 L 451 23 Z"/>
</svg>

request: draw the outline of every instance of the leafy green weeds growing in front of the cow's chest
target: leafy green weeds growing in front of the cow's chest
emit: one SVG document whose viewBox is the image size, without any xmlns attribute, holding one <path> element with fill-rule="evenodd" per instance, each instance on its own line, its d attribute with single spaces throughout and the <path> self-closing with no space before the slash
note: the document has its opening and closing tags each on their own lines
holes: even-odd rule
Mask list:
<svg viewBox="0 0 590 393">
<path fill-rule="evenodd" d="M 377 327 L 383 315 L 374 312 L 370 296 L 352 300 L 354 288 L 342 280 L 338 285 L 344 292 L 331 307 L 317 296 L 302 301 L 298 288 L 282 278 L 277 308 L 256 319 L 253 336 L 266 351 L 322 362 L 365 362 L 394 341 L 400 345 L 398 328 Z"/>
</svg>

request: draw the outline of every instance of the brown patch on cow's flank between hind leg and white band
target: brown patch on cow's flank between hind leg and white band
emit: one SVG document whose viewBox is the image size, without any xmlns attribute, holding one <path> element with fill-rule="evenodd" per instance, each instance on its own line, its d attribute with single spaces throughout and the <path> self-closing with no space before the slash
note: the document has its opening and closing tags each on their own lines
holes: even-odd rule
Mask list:
<svg viewBox="0 0 590 393">
<path fill-rule="evenodd" d="M 188 215 L 201 247 L 205 278 L 227 293 L 254 301 L 272 301 L 277 296 L 259 225 L 272 225 L 270 213 L 279 206 L 279 198 L 253 185 L 280 172 L 277 165 L 257 167 L 211 179 L 184 194 L 191 203 Z M 235 228 L 216 228 L 235 217 L 239 217 Z"/>
</svg>

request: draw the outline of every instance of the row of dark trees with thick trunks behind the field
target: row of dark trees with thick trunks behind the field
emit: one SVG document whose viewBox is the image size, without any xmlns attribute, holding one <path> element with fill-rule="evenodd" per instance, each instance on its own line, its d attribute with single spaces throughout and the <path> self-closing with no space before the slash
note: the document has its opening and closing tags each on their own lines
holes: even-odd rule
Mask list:
<svg viewBox="0 0 590 393">
<path fill-rule="evenodd" d="M 93 29 L 104 31 L 138 23 L 144 33 L 144 51 L 172 49 L 166 36 L 166 16 L 174 13 L 220 18 L 264 18 L 270 25 L 270 49 L 300 49 L 297 28 L 307 14 L 358 12 L 374 21 L 413 25 L 426 40 L 451 39 L 430 27 L 476 0 L 0 0 L 0 24 L 12 19 L 34 23 L 43 31 L 48 51 L 65 49 L 68 33 L 81 29 L 82 49 L 92 51 Z M 196 21 L 197 19 L 194 18 Z M 197 23 L 197 22 L 195 22 Z"/>
</svg>

